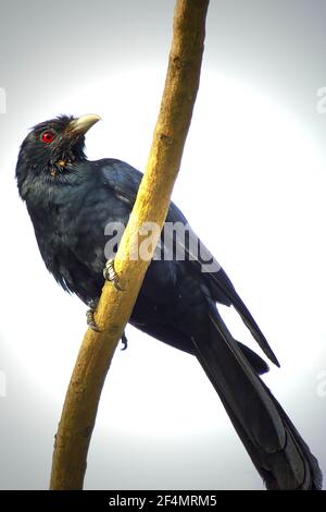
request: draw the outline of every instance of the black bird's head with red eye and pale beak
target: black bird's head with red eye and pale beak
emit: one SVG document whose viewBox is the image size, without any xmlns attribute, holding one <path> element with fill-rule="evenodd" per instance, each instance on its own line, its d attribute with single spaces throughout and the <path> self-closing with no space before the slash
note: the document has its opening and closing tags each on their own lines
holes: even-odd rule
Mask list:
<svg viewBox="0 0 326 512">
<path fill-rule="evenodd" d="M 24 190 L 40 180 L 64 182 L 74 163 L 86 159 L 85 134 L 99 120 L 96 114 L 60 115 L 34 126 L 21 146 L 16 166 L 22 197 Z"/>
</svg>

